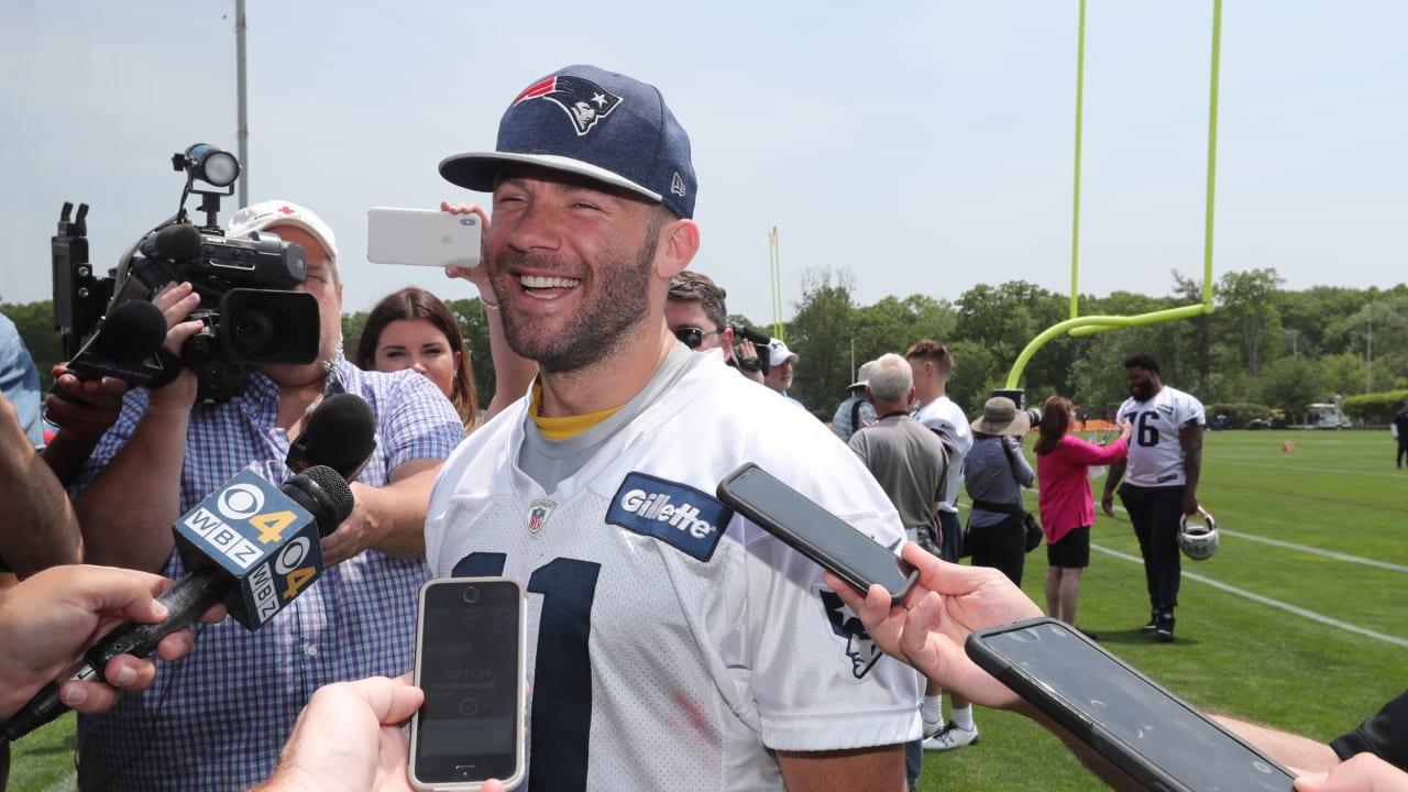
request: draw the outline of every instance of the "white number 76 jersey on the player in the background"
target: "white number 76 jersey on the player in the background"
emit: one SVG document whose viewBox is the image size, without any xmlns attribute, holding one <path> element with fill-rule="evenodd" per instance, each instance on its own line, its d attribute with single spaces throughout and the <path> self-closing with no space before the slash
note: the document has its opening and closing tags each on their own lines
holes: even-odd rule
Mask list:
<svg viewBox="0 0 1408 792">
<path fill-rule="evenodd" d="M 1164 385 L 1148 402 L 1125 399 L 1119 406 L 1119 417 L 1129 419 L 1133 424 L 1125 481 L 1135 486 L 1183 485 L 1183 444 L 1178 443 L 1178 430 L 1207 423 L 1202 402 Z"/>
</svg>

